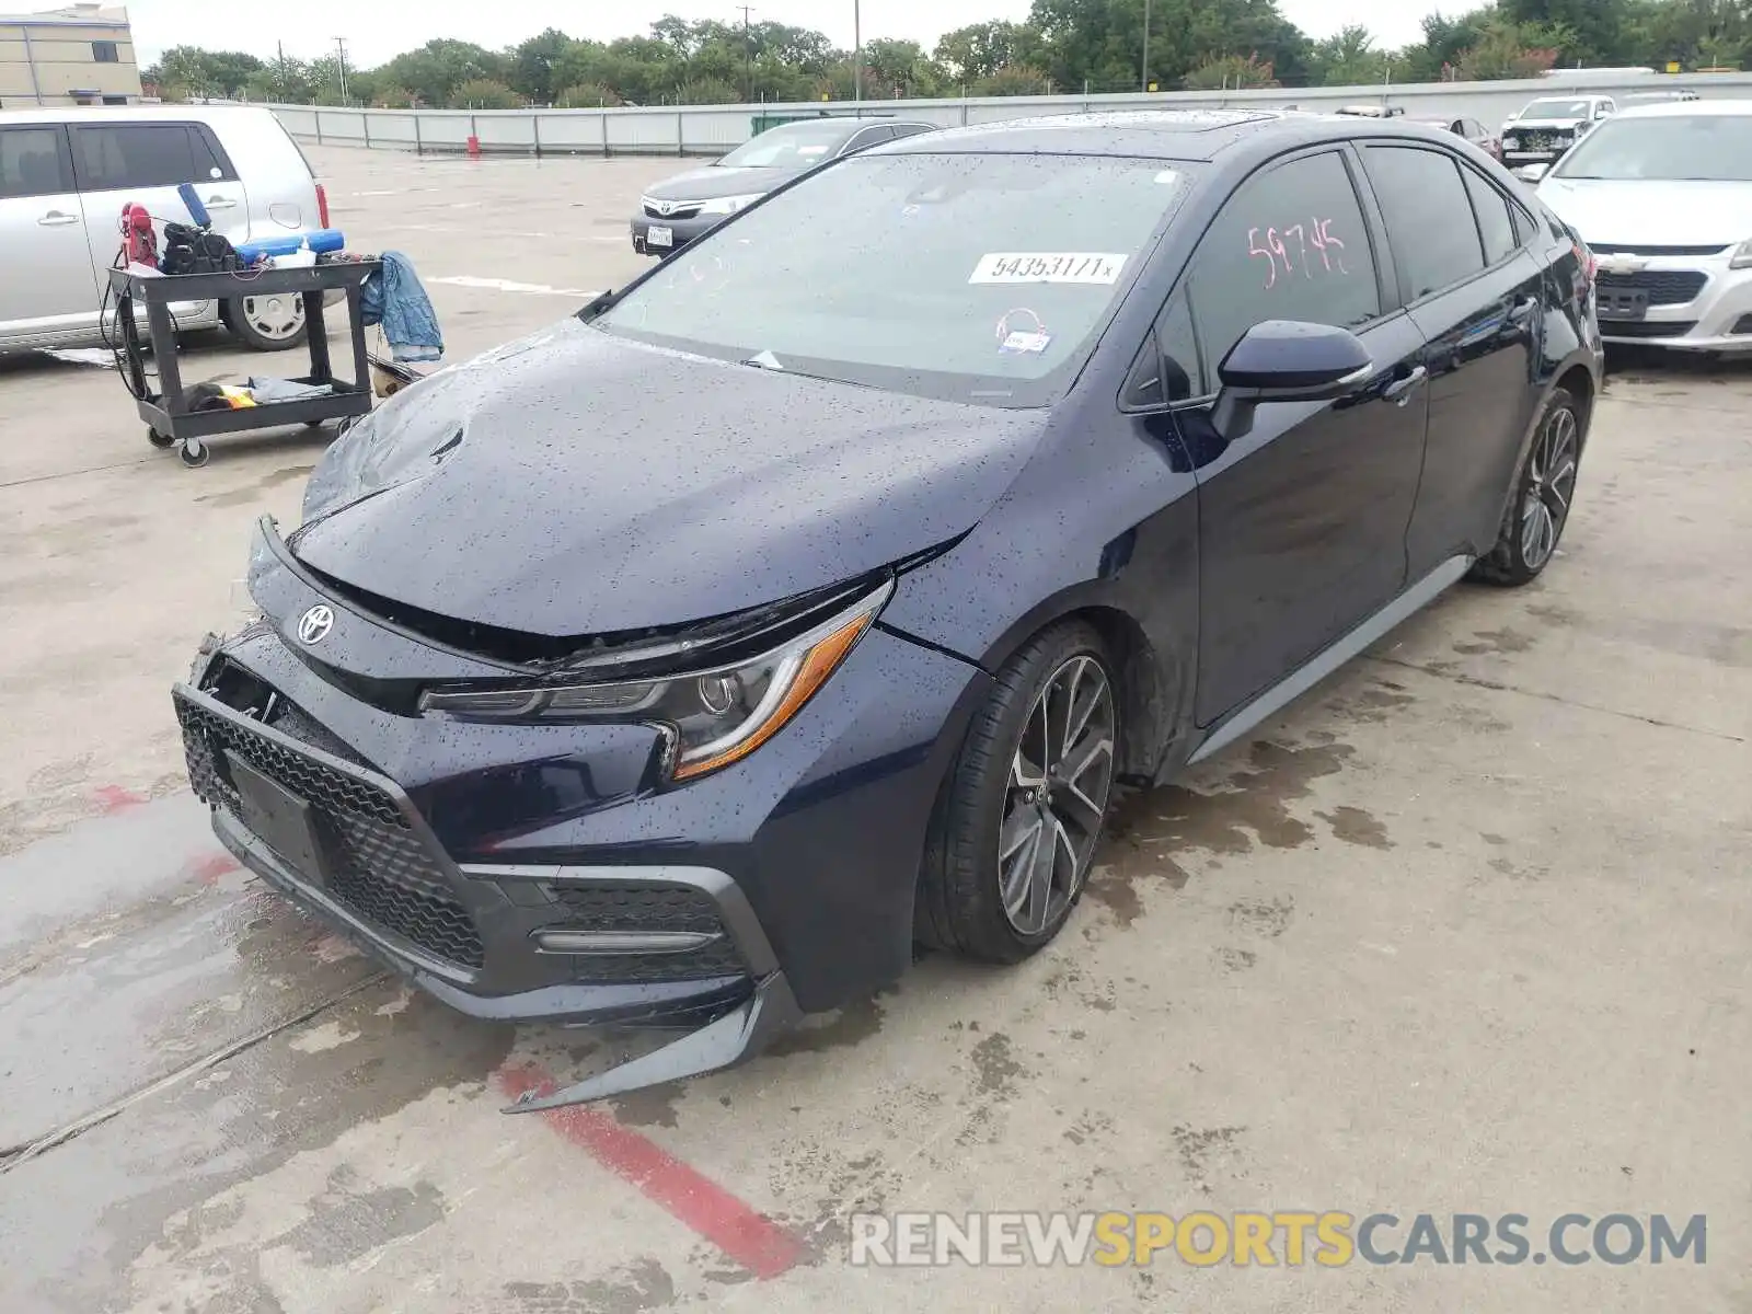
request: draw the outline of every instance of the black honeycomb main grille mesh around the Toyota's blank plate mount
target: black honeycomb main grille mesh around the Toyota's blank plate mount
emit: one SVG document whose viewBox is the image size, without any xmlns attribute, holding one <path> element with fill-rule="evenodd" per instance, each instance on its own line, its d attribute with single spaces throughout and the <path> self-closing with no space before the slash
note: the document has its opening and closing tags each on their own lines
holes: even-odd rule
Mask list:
<svg viewBox="0 0 1752 1314">
<path fill-rule="evenodd" d="M 331 858 L 326 892 L 366 922 L 419 946 L 424 953 L 480 967 L 480 932 L 457 902 L 443 871 L 413 834 L 408 818 L 384 790 L 343 774 L 326 762 L 287 748 L 226 717 L 177 696 L 177 720 L 194 794 L 238 809 L 224 750 L 310 804 Z M 301 713 L 286 718 L 298 734 L 314 725 Z M 300 736 L 305 738 L 305 736 Z"/>
</svg>

